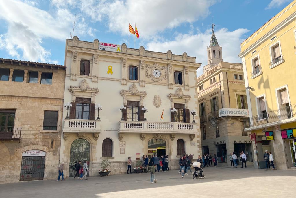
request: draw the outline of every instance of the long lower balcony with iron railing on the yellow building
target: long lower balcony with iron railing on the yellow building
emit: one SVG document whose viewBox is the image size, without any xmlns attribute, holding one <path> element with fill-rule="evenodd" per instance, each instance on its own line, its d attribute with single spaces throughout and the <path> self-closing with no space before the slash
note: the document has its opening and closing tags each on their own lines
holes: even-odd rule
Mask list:
<svg viewBox="0 0 296 198">
<path fill-rule="evenodd" d="M 255 115 L 249 118 L 247 128 L 244 131 L 263 129 L 296 120 L 296 104 Z"/>
</svg>

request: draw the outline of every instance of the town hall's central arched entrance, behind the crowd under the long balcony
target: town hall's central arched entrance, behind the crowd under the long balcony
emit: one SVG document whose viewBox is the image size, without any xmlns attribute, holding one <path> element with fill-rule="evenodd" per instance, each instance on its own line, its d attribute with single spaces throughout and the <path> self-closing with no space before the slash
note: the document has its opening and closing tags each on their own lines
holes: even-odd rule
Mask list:
<svg viewBox="0 0 296 198">
<path fill-rule="evenodd" d="M 166 141 L 162 139 L 152 139 L 148 141 L 148 157 L 164 156 L 166 153 Z"/>
</svg>

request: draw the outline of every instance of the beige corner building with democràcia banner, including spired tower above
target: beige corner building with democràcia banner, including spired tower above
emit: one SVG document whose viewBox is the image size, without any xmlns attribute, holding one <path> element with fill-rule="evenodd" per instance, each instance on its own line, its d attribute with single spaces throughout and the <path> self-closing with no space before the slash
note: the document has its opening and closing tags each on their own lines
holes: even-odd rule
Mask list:
<svg viewBox="0 0 296 198">
<path fill-rule="evenodd" d="M 223 62 L 214 24 L 207 56 L 204 73 L 197 78 L 202 153 L 216 154 L 219 166 L 230 166 L 230 153 L 241 161 L 244 151 L 247 165 L 252 165 L 252 141 L 244 132 L 249 113 L 242 64 Z"/>
</svg>

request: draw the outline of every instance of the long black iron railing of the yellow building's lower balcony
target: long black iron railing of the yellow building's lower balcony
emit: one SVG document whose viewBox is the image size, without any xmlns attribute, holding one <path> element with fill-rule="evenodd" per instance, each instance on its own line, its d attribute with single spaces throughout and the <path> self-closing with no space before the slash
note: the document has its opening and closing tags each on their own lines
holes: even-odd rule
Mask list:
<svg viewBox="0 0 296 198">
<path fill-rule="evenodd" d="M 247 128 L 259 126 L 263 124 L 271 124 L 273 122 L 286 120 L 296 117 L 296 104 L 283 107 L 277 110 L 269 111 L 263 114 L 255 115 L 249 118 Z"/>
</svg>

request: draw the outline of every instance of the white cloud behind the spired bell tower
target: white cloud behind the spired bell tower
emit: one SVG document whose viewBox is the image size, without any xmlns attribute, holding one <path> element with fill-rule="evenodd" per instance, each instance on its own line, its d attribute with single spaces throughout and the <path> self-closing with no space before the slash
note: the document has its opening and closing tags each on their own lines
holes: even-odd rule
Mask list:
<svg viewBox="0 0 296 198">
<path fill-rule="evenodd" d="M 215 36 L 219 45 L 222 45 L 222 57 L 225 62 L 241 63 L 242 60 L 237 56 L 240 52 L 240 43 L 244 41 L 244 34 L 249 30 L 239 28 L 229 31 L 227 28 L 221 28 L 215 31 Z M 212 31 L 209 29 L 204 33 L 197 34 L 178 34 L 172 41 L 152 41 L 147 43 L 147 50 L 157 52 L 167 52 L 171 50 L 173 54 L 186 52 L 188 56 L 195 56 L 196 62 L 202 63 L 197 70 L 197 76 L 203 73 L 203 66 L 207 64 L 206 49 L 210 44 Z"/>
</svg>

